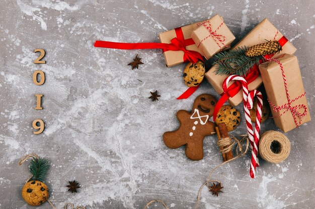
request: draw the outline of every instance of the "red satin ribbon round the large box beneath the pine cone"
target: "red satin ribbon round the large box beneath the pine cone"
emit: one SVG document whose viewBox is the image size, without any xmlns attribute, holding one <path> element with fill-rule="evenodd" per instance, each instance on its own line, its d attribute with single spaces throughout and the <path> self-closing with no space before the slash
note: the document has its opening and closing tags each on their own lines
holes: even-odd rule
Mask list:
<svg viewBox="0 0 315 209">
<path fill-rule="evenodd" d="M 281 47 L 283 47 L 288 42 L 288 40 L 287 40 L 287 38 L 282 36 L 281 39 L 278 42 L 281 45 Z M 265 59 L 270 59 L 272 57 L 273 57 L 273 55 L 265 55 L 264 56 Z M 264 62 L 264 60 L 260 60 L 259 61 L 260 64 L 263 63 L 263 62 Z M 244 78 L 247 81 L 247 83 L 250 84 L 251 82 L 255 81 L 258 78 L 259 75 L 260 75 L 260 72 L 259 72 L 258 65 L 254 65 L 252 67 L 252 69 L 249 70 L 249 73 Z M 213 121 L 215 121 L 216 116 L 217 116 L 220 108 L 228 100 L 228 98 L 237 95 L 241 89 L 242 89 L 241 82 L 235 81 L 234 83 L 232 83 L 227 88 L 227 91 L 225 91 L 225 92 L 223 92 L 221 94 L 221 98 L 219 99 L 219 101 L 216 103 L 216 105 L 214 107 Z"/>
</svg>

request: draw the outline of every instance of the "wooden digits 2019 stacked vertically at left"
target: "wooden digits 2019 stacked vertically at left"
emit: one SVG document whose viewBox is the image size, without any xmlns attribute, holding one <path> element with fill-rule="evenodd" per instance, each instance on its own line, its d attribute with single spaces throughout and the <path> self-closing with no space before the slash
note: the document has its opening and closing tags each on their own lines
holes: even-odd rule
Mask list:
<svg viewBox="0 0 315 209">
<path fill-rule="evenodd" d="M 35 49 L 34 52 L 40 52 L 40 56 L 34 60 L 35 64 L 46 64 L 46 61 L 42 60 L 45 57 L 45 51 L 43 49 Z M 39 76 L 38 76 L 39 75 Z M 39 78 L 38 78 L 39 77 Z M 33 82 L 35 85 L 40 86 L 43 85 L 45 82 L 45 74 L 41 70 L 36 70 L 33 73 Z M 35 94 L 36 99 L 36 107 L 35 110 L 42 110 L 41 102 L 42 102 L 42 94 Z M 34 134 L 40 134 L 45 129 L 45 123 L 41 119 L 35 119 L 32 123 L 34 129 L 38 129 L 33 131 Z"/>
</svg>

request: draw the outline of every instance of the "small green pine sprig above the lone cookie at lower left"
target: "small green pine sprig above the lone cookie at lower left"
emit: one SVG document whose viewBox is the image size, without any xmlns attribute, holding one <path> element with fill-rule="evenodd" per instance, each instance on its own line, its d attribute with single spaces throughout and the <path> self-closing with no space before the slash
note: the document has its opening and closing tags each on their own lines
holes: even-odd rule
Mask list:
<svg viewBox="0 0 315 209">
<path fill-rule="evenodd" d="M 34 158 L 30 164 L 30 172 L 33 175 L 30 180 L 44 181 L 47 176 L 49 166 L 47 158 Z"/>
</svg>

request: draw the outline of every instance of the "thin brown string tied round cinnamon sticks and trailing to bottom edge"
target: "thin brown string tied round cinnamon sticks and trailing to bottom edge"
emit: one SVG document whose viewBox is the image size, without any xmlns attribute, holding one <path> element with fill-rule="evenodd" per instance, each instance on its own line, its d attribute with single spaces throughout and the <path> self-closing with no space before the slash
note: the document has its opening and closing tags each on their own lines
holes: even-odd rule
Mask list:
<svg viewBox="0 0 315 209">
<path fill-rule="evenodd" d="M 218 145 L 219 145 L 219 144 L 220 144 L 220 145 L 223 144 L 223 145 L 227 145 L 227 146 L 228 146 L 227 148 L 224 148 L 223 151 L 221 150 L 221 152 L 224 152 L 224 153 L 230 151 L 230 150 L 232 149 L 233 145 L 234 145 L 234 144 L 237 144 L 237 146 L 236 146 L 237 155 L 236 155 L 235 157 L 233 157 L 232 159 L 229 159 L 229 160 L 227 160 L 227 161 L 225 161 L 225 162 L 222 162 L 221 164 L 215 166 L 215 167 L 211 170 L 211 172 L 209 173 L 209 176 L 208 176 L 206 182 L 204 182 L 204 183 L 200 186 L 200 188 L 199 188 L 198 197 L 197 197 L 197 201 L 196 201 L 196 204 L 195 204 L 194 209 L 196 209 L 196 208 L 198 207 L 198 205 L 199 205 L 199 202 L 200 202 L 200 195 L 201 195 L 201 191 L 202 191 L 202 188 L 203 188 L 204 185 L 207 185 L 207 187 L 209 187 L 209 183 L 210 183 L 210 182 L 218 182 L 218 183 L 221 183 L 221 182 L 218 181 L 218 180 L 210 180 L 213 171 L 216 170 L 218 167 L 220 167 L 220 166 L 222 166 L 222 165 L 224 165 L 224 164 L 226 164 L 226 163 L 228 163 L 228 162 L 230 162 L 230 161 L 232 161 L 232 160 L 235 160 L 235 159 L 237 159 L 237 158 L 239 158 L 239 157 L 243 157 L 243 156 L 247 153 L 248 148 L 249 148 L 248 135 L 240 135 L 240 136 L 243 136 L 243 138 L 242 138 L 241 140 L 237 139 L 237 138 L 234 137 L 234 136 L 230 136 L 230 137 L 227 137 L 227 138 L 221 138 L 220 140 L 218 140 Z M 219 141 L 220 141 L 220 142 L 219 142 Z M 245 150 L 243 150 L 243 144 L 244 144 L 244 142 L 246 142 Z M 220 145 L 219 145 L 219 146 L 220 146 Z M 147 208 L 147 207 L 148 207 L 150 204 L 152 204 L 153 202 L 161 202 L 161 203 L 163 204 L 163 206 L 164 206 L 166 209 L 168 209 L 168 207 L 166 206 L 166 204 L 165 204 L 164 201 L 162 201 L 162 200 L 151 200 L 151 201 L 149 201 L 149 202 L 144 206 L 143 209 Z"/>
</svg>

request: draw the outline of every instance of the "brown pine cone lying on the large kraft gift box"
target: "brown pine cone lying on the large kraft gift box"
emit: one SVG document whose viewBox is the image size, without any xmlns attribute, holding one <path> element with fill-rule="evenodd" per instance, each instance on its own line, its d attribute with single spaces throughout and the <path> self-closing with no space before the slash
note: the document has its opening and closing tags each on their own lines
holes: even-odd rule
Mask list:
<svg viewBox="0 0 315 209">
<path fill-rule="evenodd" d="M 263 44 L 257 44 L 246 50 L 245 55 L 247 57 L 256 57 L 259 55 L 265 56 L 270 54 L 276 54 L 282 50 L 278 41 L 269 41 Z"/>
</svg>

